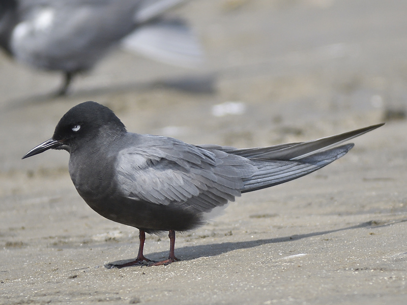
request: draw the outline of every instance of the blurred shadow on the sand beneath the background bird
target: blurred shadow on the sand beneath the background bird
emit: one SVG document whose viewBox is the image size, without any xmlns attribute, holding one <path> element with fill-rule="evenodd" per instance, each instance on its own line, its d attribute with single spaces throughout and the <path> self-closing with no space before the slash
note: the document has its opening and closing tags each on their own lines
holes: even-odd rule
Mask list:
<svg viewBox="0 0 407 305">
<path fill-rule="evenodd" d="M 13 110 L 26 105 L 47 104 L 55 100 L 89 99 L 89 96 L 97 97 L 105 94 L 140 93 L 159 88 L 177 90 L 192 94 L 214 94 L 216 92 L 216 75 L 187 75 L 178 78 L 164 78 L 145 82 L 127 82 L 114 86 L 100 86 L 90 89 L 74 90 L 66 96 L 57 96 L 55 93 L 40 94 L 36 96 L 13 99 L 5 103 L 4 110 Z"/>
</svg>

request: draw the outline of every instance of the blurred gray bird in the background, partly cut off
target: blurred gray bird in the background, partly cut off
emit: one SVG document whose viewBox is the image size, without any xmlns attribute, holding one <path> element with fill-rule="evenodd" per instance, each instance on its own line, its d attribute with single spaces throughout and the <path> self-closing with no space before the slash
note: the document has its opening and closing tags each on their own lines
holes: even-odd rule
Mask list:
<svg viewBox="0 0 407 305">
<path fill-rule="evenodd" d="M 185 67 L 202 62 L 191 28 L 164 18 L 185 0 L 2 0 L 0 47 L 37 69 L 62 71 L 67 93 L 72 78 L 92 69 L 122 44 L 165 63 Z"/>
</svg>

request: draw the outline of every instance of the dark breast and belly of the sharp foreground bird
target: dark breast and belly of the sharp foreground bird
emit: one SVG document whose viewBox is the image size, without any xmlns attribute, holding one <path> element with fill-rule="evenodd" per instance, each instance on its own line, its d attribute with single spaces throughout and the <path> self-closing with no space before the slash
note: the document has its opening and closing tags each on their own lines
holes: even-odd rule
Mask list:
<svg viewBox="0 0 407 305">
<path fill-rule="evenodd" d="M 106 156 L 106 155 L 105 155 Z M 115 162 L 103 158 L 75 158 L 71 156 L 71 179 L 79 195 L 101 216 L 144 229 L 157 231 L 187 231 L 205 224 L 201 213 L 188 210 L 177 203 L 151 203 L 125 197 L 114 179 Z M 72 171 L 71 168 L 75 168 Z"/>
</svg>

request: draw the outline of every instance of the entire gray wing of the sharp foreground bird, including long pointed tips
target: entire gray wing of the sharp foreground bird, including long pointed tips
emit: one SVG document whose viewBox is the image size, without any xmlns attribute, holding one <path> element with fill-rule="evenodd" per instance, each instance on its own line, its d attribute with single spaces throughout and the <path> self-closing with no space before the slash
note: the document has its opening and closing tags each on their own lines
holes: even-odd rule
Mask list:
<svg viewBox="0 0 407 305">
<path fill-rule="evenodd" d="M 380 126 L 315 141 L 245 149 L 193 146 L 172 138 L 139 135 L 144 137 L 142 143 L 120 151 L 116 176 L 129 198 L 210 211 L 241 193 L 322 168 L 354 144 L 329 147 Z"/>
</svg>

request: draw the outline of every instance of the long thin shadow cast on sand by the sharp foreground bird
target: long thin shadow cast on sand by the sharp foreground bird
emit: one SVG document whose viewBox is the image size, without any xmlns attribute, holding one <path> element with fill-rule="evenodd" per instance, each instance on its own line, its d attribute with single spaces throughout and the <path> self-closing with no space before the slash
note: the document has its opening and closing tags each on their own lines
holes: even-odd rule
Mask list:
<svg viewBox="0 0 407 305">
<path fill-rule="evenodd" d="M 279 242 L 288 242 L 288 241 L 295 241 L 303 238 L 318 236 L 318 235 L 325 235 L 334 232 L 340 232 L 344 230 L 352 230 L 352 229 L 359 229 L 359 228 L 381 228 L 387 227 L 396 223 L 407 222 L 407 219 L 399 220 L 399 221 L 392 221 L 392 222 L 383 222 L 383 221 L 367 221 L 361 223 L 359 225 L 344 227 L 340 229 L 333 229 L 327 231 L 319 231 L 319 232 L 311 232 L 306 234 L 295 234 L 285 237 L 277 237 L 277 238 L 266 238 L 266 239 L 256 239 L 256 240 L 247 240 L 247 241 L 238 241 L 238 242 L 222 242 L 222 243 L 211 243 L 209 245 L 198 245 L 198 246 L 185 246 L 182 248 L 176 248 L 176 254 L 179 258 L 182 258 L 183 261 L 189 261 L 193 259 L 197 259 L 199 257 L 210 257 L 210 256 L 218 256 L 230 251 L 240 250 L 240 249 L 249 249 L 254 248 L 261 245 L 267 245 L 269 243 L 279 243 Z M 152 258 L 163 258 L 168 255 L 168 252 L 155 252 L 150 253 L 148 256 Z M 111 268 L 112 265 L 120 265 L 125 264 L 127 262 L 133 261 L 132 259 L 125 259 L 110 262 L 104 265 L 106 268 Z"/>
</svg>

